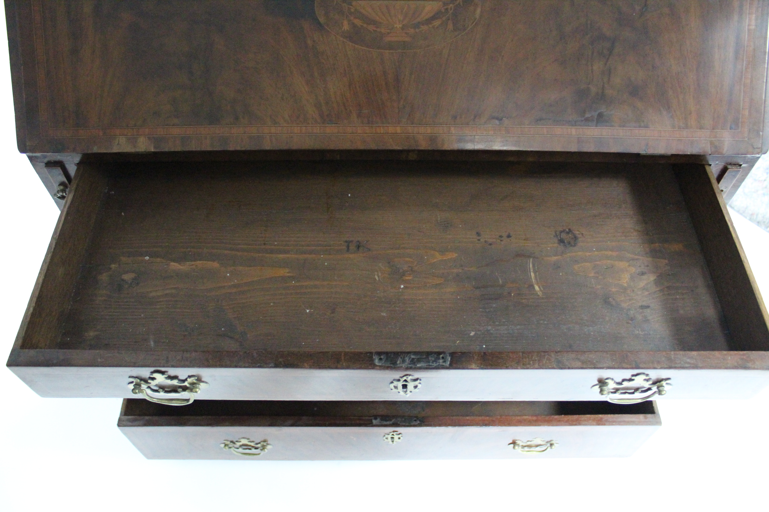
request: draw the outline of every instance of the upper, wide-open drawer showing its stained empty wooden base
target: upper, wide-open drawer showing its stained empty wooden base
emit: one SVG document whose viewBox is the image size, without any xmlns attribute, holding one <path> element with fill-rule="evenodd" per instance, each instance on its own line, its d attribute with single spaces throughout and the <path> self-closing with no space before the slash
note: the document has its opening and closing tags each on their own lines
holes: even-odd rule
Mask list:
<svg viewBox="0 0 769 512">
<path fill-rule="evenodd" d="M 179 405 L 632 402 L 746 398 L 767 351 L 702 165 L 92 159 L 8 366 Z"/>
</svg>

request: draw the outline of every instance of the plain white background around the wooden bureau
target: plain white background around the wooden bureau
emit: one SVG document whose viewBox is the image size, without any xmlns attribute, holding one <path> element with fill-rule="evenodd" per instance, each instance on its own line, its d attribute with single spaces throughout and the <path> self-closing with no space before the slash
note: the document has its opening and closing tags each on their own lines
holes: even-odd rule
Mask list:
<svg viewBox="0 0 769 512">
<path fill-rule="evenodd" d="M 0 358 L 10 350 L 58 209 L 15 147 L 0 36 Z M 769 233 L 736 214 L 769 297 Z M 39 398 L 0 368 L 0 510 L 769 510 L 769 391 L 660 401 L 634 457 L 523 461 L 147 461 L 119 399 Z"/>
</svg>

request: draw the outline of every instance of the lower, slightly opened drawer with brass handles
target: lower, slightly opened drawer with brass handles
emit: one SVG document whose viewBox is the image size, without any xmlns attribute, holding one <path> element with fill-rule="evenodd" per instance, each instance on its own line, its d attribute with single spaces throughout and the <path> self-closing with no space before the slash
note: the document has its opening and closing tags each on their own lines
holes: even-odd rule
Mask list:
<svg viewBox="0 0 769 512">
<path fill-rule="evenodd" d="M 654 401 L 123 401 L 118 427 L 151 459 L 261 461 L 628 457 Z"/>
</svg>

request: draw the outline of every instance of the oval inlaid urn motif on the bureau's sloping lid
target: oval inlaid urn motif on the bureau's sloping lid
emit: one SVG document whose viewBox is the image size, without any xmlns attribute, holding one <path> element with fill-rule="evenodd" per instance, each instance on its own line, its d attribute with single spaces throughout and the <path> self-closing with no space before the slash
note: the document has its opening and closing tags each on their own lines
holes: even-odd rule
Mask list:
<svg viewBox="0 0 769 512">
<path fill-rule="evenodd" d="M 481 0 L 315 0 L 318 19 L 353 45 L 380 51 L 424 50 L 468 31 Z"/>
</svg>

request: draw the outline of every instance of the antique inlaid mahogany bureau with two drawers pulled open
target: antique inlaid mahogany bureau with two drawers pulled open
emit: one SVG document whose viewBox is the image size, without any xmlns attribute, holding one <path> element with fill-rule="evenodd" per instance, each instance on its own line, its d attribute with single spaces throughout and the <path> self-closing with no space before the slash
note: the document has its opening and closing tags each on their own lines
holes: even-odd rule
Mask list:
<svg viewBox="0 0 769 512">
<path fill-rule="evenodd" d="M 62 207 L 8 367 L 135 398 L 149 457 L 629 454 L 645 401 L 769 384 L 725 206 L 769 148 L 769 2 L 5 9 Z"/>
</svg>

